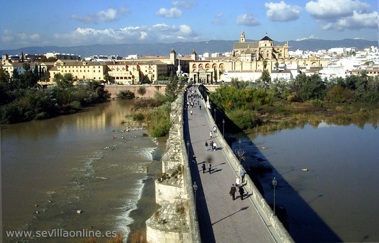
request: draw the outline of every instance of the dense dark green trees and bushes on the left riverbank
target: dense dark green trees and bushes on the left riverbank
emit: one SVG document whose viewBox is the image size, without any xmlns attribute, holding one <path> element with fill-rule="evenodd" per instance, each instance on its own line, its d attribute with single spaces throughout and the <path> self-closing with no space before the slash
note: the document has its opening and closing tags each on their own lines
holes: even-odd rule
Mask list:
<svg viewBox="0 0 379 243">
<path fill-rule="evenodd" d="M 16 123 L 46 119 L 61 114 L 70 114 L 80 110 L 83 105 L 99 103 L 110 97 L 103 85 L 95 80 L 73 85 L 70 73 L 54 75 L 56 86 L 42 88 L 37 81 L 45 75 L 34 71 L 24 63 L 26 70 L 12 78 L 4 69 L 0 69 L 0 116 L 1 123 Z"/>
</svg>

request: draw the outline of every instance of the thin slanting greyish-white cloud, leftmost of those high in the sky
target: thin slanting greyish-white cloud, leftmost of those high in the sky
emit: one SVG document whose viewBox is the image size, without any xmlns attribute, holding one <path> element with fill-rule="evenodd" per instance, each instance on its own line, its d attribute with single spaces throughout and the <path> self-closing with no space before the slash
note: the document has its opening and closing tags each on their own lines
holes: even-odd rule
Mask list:
<svg viewBox="0 0 379 243">
<path fill-rule="evenodd" d="M 85 22 L 85 23 L 93 23 L 96 24 L 97 21 L 102 22 L 113 22 L 118 21 L 120 18 L 120 15 L 123 15 L 124 13 L 128 13 L 129 9 L 126 5 L 121 6 L 120 8 L 108 8 L 107 10 L 101 10 L 97 13 L 89 13 L 83 17 L 77 16 L 77 15 L 71 15 L 71 18 Z"/>
</svg>

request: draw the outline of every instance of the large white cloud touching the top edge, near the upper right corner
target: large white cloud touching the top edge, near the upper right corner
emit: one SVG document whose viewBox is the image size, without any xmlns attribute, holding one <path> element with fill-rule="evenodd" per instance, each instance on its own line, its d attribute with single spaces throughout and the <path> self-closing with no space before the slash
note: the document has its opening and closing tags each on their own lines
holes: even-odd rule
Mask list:
<svg viewBox="0 0 379 243">
<path fill-rule="evenodd" d="M 325 20 L 352 16 L 354 10 L 365 13 L 372 6 L 360 0 L 317 0 L 308 2 L 305 8 L 310 16 Z"/>
</svg>

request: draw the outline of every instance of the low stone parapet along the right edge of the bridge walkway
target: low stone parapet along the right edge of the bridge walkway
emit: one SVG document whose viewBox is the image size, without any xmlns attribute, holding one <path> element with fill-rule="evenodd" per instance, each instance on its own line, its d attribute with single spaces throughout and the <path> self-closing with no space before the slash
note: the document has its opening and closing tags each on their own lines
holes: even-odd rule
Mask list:
<svg viewBox="0 0 379 243">
<path fill-rule="evenodd" d="M 204 97 L 204 100 L 203 100 L 204 107 L 207 107 L 205 104 L 206 100 L 207 100 L 207 97 Z M 213 117 L 212 117 L 209 109 L 207 109 L 207 116 L 208 116 L 208 120 L 210 121 L 211 126 L 216 125 L 217 130 L 221 131 L 220 128 L 215 123 L 215 121 L 213 120 Z M 234 168 L 234 170 L 237 173 L 240 173 L 242 171 L 242 169 L 244 169 L 244 168 L 240 164 L 240 161 L 238 160 L 237 156 L 234 154 L 233 150 L 230 148 L 229 144 L 226 142 L 226 140 L 224 139 L 223 136 L 219 136 L 218 138 L 219 138 L 219 142 L 220 142 L 219 146 L 223 148 L 225 154 L 230 159 L 229 162 L 230 162 L 231 166 Z M 239 176 L 239 174 L 237 174 L 237 176 Z M 244 186 L 245 189 L 251 191 L 251 193 L 252 193 L 251 198 L 253 200 L 253 203 L 256 205 L 257 208 L 260 209 L 260 210 L 258 210 L 258 212 L 259 211 L 263 212 L 264 215 L 268 219 L 268 222 L 265 222 L 266 225 L 271 225 L 274 228 L 274 230 L 276 231 L 277 235 L 279 236 L 280 240 L 283 243 L 294 243 L 291 235 L 288 233 L 288 231 L 283 226 L 283 224 L 280 222 L 280 220 L 276 217 L 276 215 L 274 215 L 273 210 L 268 205 L 266 200 L 262 197 L 262 195 L 258 191 L 257 187 L 255 186 L 253 180 L 250 178 L 250 176 L 248 174 L 245 174 L 245 182 L 246 182 L 246 185 Z"/>
</svg>

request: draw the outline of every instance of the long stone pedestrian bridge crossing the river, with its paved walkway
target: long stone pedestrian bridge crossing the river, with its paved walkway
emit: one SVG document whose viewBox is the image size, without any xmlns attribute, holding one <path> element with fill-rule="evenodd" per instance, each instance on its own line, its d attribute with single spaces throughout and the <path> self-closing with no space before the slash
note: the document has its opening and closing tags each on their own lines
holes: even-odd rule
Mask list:
<svg viewBox="0 0 379 243">
<path fill-rule="evenodd" d="M 206 151 L 205 141 L 210 141 L 209 133 L 216 124 L 209 109 L 203 108 L 204 100 L 202 109 L 195 105 L 186 110 L 186 98 L 187 94 L 180 95 L 172 103 L 173 125 L 162 157 L 163 173 L 155 181 L 156 203 L 162 207 L 146 221 L 147 241 L 293 243 L 247 174 L 245 198 L 241 200 L 238 192 L 235 201 L 229 196 L 242 166 L 220 132 L 212 137 L 217 150 Z M 197 157 L 196 163 L 189 161 L 192 155 Z M 211 173 L 207 169 L 203 174 L 203 160 L 206 165 L 211 162 Z"/>
</svg>

